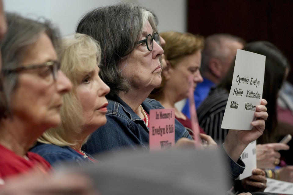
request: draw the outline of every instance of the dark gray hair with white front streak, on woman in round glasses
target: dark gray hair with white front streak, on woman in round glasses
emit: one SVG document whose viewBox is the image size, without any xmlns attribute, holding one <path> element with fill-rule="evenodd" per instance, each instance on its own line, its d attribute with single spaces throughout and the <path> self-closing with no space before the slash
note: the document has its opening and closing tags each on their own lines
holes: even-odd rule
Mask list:
<svg viewBox="0 0 293 195">
<path fill-rule="evenodd" d="M 76 32 L 93 37 L 101 45 L 100 77 L 111 89 L 108 97 L 129 91 L 129 82 L 121 75 L 119 64 L 137 47 L 147 21 L 157 32 L 154 15 L 132 3 L 93 9 L 79 21 Z"/>
</svg>

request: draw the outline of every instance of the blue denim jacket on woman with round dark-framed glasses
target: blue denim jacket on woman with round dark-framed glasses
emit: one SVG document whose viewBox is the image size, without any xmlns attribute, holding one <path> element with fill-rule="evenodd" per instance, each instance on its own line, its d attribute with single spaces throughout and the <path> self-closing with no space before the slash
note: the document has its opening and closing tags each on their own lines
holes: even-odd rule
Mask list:
<svg viewBox="0 0 293 195">
<path fill-rule="evenodd" d="M 149 130 L 145 122 L 118 96 L 108 99 L 107 123 L 92 133 L 83 150 L 89 154 L 113 151 L 122 147 L 135 149 L 141 146 L 149 150 Z M 146 99 L 143 109 L 149 114 L 150 109 L 164 108 L 154 99 Z M 175 119 L 175 142 L 181 137 L 191 139 L 188 131 Z"/>
</svg>

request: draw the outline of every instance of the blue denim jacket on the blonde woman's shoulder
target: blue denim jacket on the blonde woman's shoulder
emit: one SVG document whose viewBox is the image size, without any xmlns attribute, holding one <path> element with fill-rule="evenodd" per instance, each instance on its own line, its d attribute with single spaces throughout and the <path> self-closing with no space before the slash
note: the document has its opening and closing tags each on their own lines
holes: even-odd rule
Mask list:
<svg viewBox="0 0 293 195">
<path fill-rule="evenodd" d="M 60 164 L 64 161 L 74 163 L 78 166 L 93 164 L 94 162 L 86 158 L 86 156 L 79 154 L 77 151 L 68 146 L 57 146 L 54 144 L 43 144 L 38 142 L 31 151 L 39 154 L 52 166 Z M 89 154 L 86 154 L 92 158 Z M 94 158 L 92 158 L 94 159 Z"/>
</svg>

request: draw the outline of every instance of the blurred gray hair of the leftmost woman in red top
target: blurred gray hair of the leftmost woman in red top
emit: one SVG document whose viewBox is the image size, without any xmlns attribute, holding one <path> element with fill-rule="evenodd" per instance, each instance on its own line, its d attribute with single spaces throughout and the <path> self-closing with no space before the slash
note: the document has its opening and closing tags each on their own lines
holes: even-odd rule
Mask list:
<svg viewBox="0 0 293 195">
<path fill-rule="evenodd" d="M 14 13 L 6 13 L 7 33 L 1 42 L 3 89 L 1 90 L 0 119 L 10 115 L 10 96 L 17 87 L 18 74 L 6 72 L 5 69 L 13 69 L 22 66 L 22 61 L 27 54 L 27 48 L 38 41 L 42 33 L 48 35 L 54 48 L 59 45 L 59 31 L 53 29 L 49 21 L 38 22 L 23 18 Z"/>
</svg>

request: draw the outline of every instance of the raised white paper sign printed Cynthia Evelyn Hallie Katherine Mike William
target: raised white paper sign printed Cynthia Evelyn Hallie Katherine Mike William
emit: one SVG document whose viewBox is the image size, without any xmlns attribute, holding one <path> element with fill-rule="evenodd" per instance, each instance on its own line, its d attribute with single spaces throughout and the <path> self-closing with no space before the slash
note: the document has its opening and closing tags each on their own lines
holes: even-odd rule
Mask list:
<svg viewBox="0 0 293 195">
<path fill-rule="evenodd" d="M 254 119 L 255 108 L 262 100 L 265 62 L 264 55 L 237 49 L 222 129 L 252 129 L 250 123 Z"/>
</svg>

